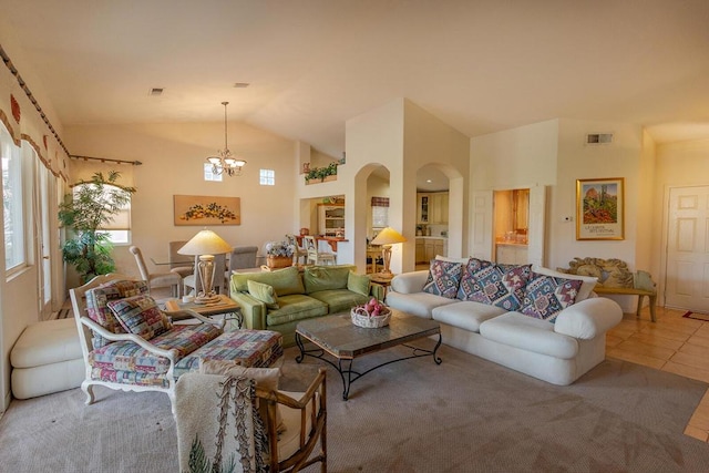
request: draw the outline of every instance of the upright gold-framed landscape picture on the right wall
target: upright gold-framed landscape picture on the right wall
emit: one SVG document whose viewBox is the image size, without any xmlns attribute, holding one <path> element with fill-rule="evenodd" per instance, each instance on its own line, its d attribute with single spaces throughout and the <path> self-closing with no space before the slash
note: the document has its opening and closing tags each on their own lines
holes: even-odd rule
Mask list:
<svg viewBox="0 0 709 473">
<path fill-rule="evenodd" d="M 576 239 L 624 239 L 623 177 L 576 181 Z"/>
</svg>

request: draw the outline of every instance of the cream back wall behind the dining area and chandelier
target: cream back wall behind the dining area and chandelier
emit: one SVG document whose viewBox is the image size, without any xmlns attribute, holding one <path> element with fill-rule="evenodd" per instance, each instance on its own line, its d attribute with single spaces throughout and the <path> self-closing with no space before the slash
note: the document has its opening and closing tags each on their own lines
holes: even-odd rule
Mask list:
<svg viewBox="0 0 709 473">
<path fill-rule="evenodd" d="M 240 225 L 209 227 L 233 246 L 261 248 L 298 226 L 291 197 L 295 143 L 242 123 L 229 123 L 228 131 L 230 150 L 247 164 L 242 176 L 223 176 L 220 183 L 204 181 L 203 164 L 223 146 L 224 123 L 76 125 L 66 127 L 65 142 L 73 154 L 143 163 L 133 168 L 132 243 L 143 250 L 151 271 L 164 271 L 150 258 L 166 261 L 168 241 L 189 239 L 203 228 L 174 225 L 174 195 L 240 197 Z M 275 186 L 259 185 L 260 168 L 276 171 Z M 114 256 L 116 270 L 138 274 L 127 247 L 116 247 Z"/>
</svg>

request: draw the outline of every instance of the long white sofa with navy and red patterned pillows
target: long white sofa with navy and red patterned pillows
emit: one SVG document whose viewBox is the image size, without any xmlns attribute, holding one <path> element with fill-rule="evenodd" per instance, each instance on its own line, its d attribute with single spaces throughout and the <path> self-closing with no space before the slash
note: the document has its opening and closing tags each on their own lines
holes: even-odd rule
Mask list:
<svg viewBox="0 0 709 473">
<path fill-rule="evenodd" d="M 456 264 L 461 269 L 453 291 L 455 278 L 446 278 L 446 274 L 455 273 Z M 395 276 L 387 305 L 441 322 L 445 345 L 553 384 L 571 384 L 602 362 L 605 333 L 623 318 L 615 301 L 593 292 L 595 278 L 531 265 L 517 267 L 526 269 L 510 276 L 512 266 L 475 258 L 439 257 L 431 265 L 430 271 Z M 485 277 L 475 275 L 475 268 L 481 267 Z M 445 281 L 432 288 L 436 277 Z M 505 289 L 507 296 L 494 300 Z M 545 312 L 549 301 L 558 304 L 556 309 L 561 310 Z"/>
</svg>

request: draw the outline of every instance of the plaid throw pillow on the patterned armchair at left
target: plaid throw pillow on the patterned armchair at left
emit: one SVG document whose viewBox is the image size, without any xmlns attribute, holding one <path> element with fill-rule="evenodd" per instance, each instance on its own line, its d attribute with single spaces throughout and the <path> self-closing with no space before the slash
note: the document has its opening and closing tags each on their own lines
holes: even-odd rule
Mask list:
<svg viewBox="0 0 709 473">
<path fill-rule="evenodd" d="M 106 306 L 126 332 L 135 333 L 145 340 L 165 333 L 172 328 L 167 317 L 150 296 L 111 300 Z"/>
</svg>

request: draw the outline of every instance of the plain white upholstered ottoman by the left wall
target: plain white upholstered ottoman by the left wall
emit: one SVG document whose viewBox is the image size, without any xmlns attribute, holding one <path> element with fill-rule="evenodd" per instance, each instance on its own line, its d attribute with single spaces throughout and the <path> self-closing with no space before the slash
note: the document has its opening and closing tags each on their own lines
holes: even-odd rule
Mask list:
<svg viewBox="0 0 709 473">
<path fill-rule="evenodd" d="M 35 398 L 78 388 L 85 378 L 73 318 L 28 326 L 10 352 L 12 395 Z"/>
</svg>

